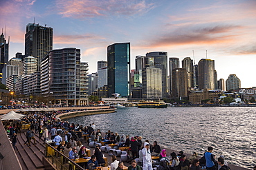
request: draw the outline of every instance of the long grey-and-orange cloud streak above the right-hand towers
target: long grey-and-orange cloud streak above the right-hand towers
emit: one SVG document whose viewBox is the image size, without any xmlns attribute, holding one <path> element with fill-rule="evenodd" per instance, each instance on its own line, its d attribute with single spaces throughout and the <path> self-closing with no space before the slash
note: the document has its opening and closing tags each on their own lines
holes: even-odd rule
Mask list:
<svg viewBox="0 0 256 170">
<path fill-rule="evenodd" d="M 231 30 L 239 29 L 239 25 L 217 25 L 214 27 L 190 28 L 183 27 L 172 32 L 162 34 L 160 37 L 149 42 L 150 47 L 172 46 L 172 45 L 199 45 L 231 43 L 237 38 Z"/>
</svg>

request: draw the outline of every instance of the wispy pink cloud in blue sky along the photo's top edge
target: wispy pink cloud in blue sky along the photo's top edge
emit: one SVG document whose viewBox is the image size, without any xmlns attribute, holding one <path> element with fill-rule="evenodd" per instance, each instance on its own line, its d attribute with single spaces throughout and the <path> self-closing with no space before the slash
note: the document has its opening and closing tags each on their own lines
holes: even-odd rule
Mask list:
<svg viewBox="0 0 256 170">
<path fill-rule="evenodd" d="M 110 15 L 134 16 L 145 14 L 153 3 L 145 0 L 57 0 L 57 10 L 63 17 L 86 19 Z"/>
</svg>

